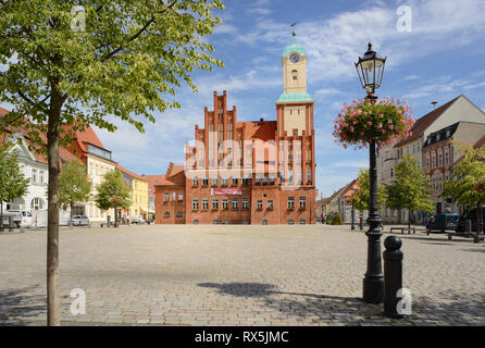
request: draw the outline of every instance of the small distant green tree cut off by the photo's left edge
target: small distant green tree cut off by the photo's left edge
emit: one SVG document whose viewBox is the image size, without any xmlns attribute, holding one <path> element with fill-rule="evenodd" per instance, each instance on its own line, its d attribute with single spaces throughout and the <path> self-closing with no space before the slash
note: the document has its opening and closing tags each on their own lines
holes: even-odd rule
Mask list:
<svg viewBox="0 0 485 348">
<path fill-rule="evenodd" d="M 27 194 L 28 178 L 25 178 L 15 151 L 9 152 L 11 144 L 0 147 L 0 215 L 3 216 L 3 202 Z M 3 223 L 0 227 L 3 227 Z"/>
</svg>

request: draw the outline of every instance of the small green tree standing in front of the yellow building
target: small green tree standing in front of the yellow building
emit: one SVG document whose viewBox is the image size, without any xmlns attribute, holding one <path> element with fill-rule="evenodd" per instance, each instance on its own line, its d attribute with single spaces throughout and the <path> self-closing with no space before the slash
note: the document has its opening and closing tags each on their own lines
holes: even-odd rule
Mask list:
<svg viewBox="0 0 485 348">
<path fill-rule="evenodd" d="M 115 169 L 104 174 L 104 181 L 96 187 L 96 206 L 102 210 L 114 208 L 117 221 L 117 208 L 126 209 L 132 204 L 132 189 L 123 181 L 123 174 Z"/>
</svg>

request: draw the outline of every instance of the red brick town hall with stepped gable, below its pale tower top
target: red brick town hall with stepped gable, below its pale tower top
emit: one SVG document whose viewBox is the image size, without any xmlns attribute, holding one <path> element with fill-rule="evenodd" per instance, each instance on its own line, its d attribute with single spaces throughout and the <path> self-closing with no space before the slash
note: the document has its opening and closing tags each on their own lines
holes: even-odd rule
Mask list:
<svg viewBox="0 0 485 348">
<path fill-rule="evenodd" d="M 287 104 L 306 110 L 300 135 L 283 132 Z M 214 91 L 214 109 L 204 109 L 204 128 L 195 126 L 185 167 L 171 164 L 154 185 L 156 222 L 315 223 L 313 101 L 287 104 L 276 103 L 276 121 L 237 122 L 226 92 Z"/>
</svg>

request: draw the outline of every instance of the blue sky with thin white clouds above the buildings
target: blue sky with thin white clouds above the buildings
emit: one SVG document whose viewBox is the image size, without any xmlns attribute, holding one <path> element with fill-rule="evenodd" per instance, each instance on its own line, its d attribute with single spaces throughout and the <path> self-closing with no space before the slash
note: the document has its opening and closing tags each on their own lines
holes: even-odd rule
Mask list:
<svg viewBox="0 0 485 348">
<path fill-rule="evenodd" d="M 239 121 L 276 120 L 275 101 L 283 90 L 281 55 L 297 42 L 308 55 L 308 91 L 315 100 L 316 186 L 323 196 L 350 182 L 368 152 L 344 150 L 332 138 L 332 120 L 345 102 L 364 97 L 353 62 L 366 50 L 387 55 L 378 96 L 403 98 L 421 117 L 464 94 L 485 110 L 485 1 L 226 0 L 224 23 L 207 38 L 225 67 L 195 73 L 198 94 L 178 91 L 182 109 L 156 114 L 140 135 L 119 123 L 115 134 L 99 130 L 113 159 L 139 174 L 164 174 L 171 161 L 184 164 L 184 144 L 212 109 L 212 91 L 227 90 Z M 411 32 L 398 30 L 397 9 L 412 10 Z M 7 105 L 8 107 L 8 105 Z"/>
</svg>

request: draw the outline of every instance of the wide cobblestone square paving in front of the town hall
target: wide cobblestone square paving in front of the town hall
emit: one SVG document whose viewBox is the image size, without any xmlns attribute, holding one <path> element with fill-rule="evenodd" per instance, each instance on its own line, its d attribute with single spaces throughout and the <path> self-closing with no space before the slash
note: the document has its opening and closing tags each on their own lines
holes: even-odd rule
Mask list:
<svg viewBox="0 0 485 348">
<path fill-rule="evenodd" d="M 402 239 L 412 314 L 360 300 L 366 237 L 349 226 L 60 232 L 64 325 L 484 325 L 485 246 Z M 383 239 L 387 235 L 383 236 Z M 46 324 L 46 231 L 0 235 L 0 324 Z M 73 315 L 71 290 L 86 293 Z"/>
</svg>

